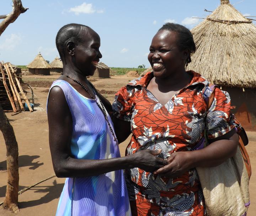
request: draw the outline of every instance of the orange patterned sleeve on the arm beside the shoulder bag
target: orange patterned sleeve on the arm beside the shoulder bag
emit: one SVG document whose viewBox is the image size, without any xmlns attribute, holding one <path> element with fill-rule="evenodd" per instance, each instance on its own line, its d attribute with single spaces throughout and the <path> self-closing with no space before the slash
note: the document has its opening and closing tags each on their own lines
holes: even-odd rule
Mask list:
<svg viewBox="0 0 256 216">
<path fill-rule="evenodd" d="M 206 135 L 208 139 L 220 137 L 235 126 L 230 112 L 230 96 L 219 88 L 214 89 L 214 100 L 206 115 Z"/>
</svg>

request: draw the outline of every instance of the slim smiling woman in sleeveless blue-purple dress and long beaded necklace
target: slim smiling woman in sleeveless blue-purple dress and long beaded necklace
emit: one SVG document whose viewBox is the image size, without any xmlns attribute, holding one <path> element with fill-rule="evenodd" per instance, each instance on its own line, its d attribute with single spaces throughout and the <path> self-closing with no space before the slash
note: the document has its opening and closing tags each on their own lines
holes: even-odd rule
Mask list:
<svg viewBox="0 0 256 216">
<path fill-rule="evenodd" d="M 49 90 L 49 144 L 57 177 L 66 177 L 56 215 L 130 216 L 122 169 L 153 172 L 167 161 L 155 157 L 161 151 L 154 150 L 120 157 L 103 106 L 109 102 L 86 79 L 102 57 L 99 35 L 90 27 L 68 24 L 59 30 L 56 45 L 63 74 Z"/>
</svg>

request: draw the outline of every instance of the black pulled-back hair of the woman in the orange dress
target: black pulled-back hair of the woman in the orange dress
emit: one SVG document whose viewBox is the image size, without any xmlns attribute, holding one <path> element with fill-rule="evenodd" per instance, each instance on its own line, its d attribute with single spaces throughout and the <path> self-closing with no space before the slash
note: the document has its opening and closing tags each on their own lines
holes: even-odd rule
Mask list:
<svg viewBox="0 0 256 216">
<path fill-rule="evenodd" d="M 194 43 L 193 35 L 188 28 L 177 23 L 165 23 L 158 31 L 169 30 L 178 34 L 178 47 L 181 50 L 190 49 L 190 54 L 196 51 L 196 44 Z M 191 62 L 190 55 L 186 60 L 186 66 Z"/>
</svg>

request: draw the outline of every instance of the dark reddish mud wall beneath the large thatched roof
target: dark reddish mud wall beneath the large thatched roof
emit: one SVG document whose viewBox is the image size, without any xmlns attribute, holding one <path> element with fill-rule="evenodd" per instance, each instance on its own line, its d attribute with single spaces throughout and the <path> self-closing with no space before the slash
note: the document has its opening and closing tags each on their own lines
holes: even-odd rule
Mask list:
<svg viewBox="0 0 256 216">
<path fill-rule="evenodd" d="M 235 106 L 231 112 L 241 123 L 246 131 L 256 131 L 256 89 L 238 87 L 222 87 L 230 95 L 231 106 Z"/>
</svg>

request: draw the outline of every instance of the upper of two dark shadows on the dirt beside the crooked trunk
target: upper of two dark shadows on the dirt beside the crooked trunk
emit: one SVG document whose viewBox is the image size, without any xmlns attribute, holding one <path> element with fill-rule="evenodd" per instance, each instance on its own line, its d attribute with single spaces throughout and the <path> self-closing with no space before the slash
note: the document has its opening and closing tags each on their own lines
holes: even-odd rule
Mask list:
<svg viewBox="0 0 256 216">
<path fill-rule="evenodd" d="M 31 166 L 29 169 L 30 170 L 35 170 L 36 168 L 38 168 L 39 166 L 43 165 L 43 163 L 39 163 L 39 161 L 36 162 L 32 162 L 34 159 L 37 159 L 38 157 L 40 157 L 39 155 L 21 155 L 18 156 L 18 166 L 19 167 L 24 167 L 24 166 Z M 7 170 L 6 167 L 6 160 L 0 162 L 0 171 L 4 171 Z"/>
</svg>

